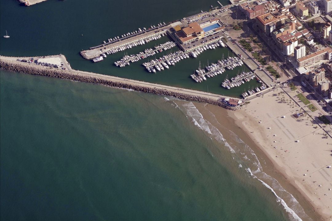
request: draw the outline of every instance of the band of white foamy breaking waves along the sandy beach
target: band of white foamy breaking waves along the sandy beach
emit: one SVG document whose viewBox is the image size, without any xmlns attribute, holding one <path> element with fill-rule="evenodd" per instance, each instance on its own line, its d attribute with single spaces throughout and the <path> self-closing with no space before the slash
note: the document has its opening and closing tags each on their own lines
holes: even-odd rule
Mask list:
<svg viewBox="0 0 332 221">
<path fill-rule="evenodd" d="M 228 130 L 223 125 L 220 125 L 217 122 L 213 113 L 209 112 L 209 114 L 213 115 L 218 126 L 221 126 L 230 135 L 230 141 L 227 142 L 223 135 L 220 133 L 220 131 L 216 127 L 214 127 L 209 121 L 204 119 L 203 115 L 199 112 L 199 110 L 192 102 L 182 104 L 181 106 L 184 107 L 185 110 L 183 111 L 185 112 L 187 118 L 191 119 L 195 126 L 205 131 L 209 137 L 214 138 L 219 143 L 222 143 L 224 146 L 228 147 L 230 152 L 232 154 L 235 154 L 235 156 L 239 158 L 239 168 L 242 168 L 242 165 L 246 165 L 245 171 L 249 173 L 253 179 L 257 179 L 263 184 L 263 186 L 271 190 L 271 192 L 276 196 L 277 202 L 279 202 L 287 212 L 290 220 L 301 221 L 302 219 L 299 217 L 299 215 L 305 220 L 312 220 L 307 214 L 305 214 L 303 208 L 300 206 L 300 204 L 297 202 L 297 200 L 293 197 L 292 194 L 288 193 L 276 179 L 263 172 L 261 163 L 258 160 L 254 151 L 235 133 Z M 265 164 L 264 160 L 263 163 Z"/>
</svg>

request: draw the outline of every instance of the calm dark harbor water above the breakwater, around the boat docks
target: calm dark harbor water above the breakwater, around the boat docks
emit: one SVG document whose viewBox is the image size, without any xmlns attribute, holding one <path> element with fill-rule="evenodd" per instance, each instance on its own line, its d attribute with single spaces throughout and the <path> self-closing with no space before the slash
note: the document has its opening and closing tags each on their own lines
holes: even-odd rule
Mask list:
<svg viewBox="0 0 332 221">
<path fill-rule="evenodd" d="M 223 5 L 228 1 L 221 0 Z M 202 63 L 216 63 L 222 56 L 233 56 L 228 48 L 207 50 L 197 59 L 182 60 L 170 69 L 151 74 L 141 65 L 148 59 L 159 58 L 161 54 L 148 57 L 130 65 L 119 68 L 114 62 L 127 54 L 136 54 L 145 48 L 153 48 L 156 44 L 170 40 L 163 37 L 149 44 L 127 49 L 108 55 L 103 62 L 97 64 L 81 57 L 79 52 L 99 45 L 104 40 L 123 33 L 132 32 L 137 28 L 150 27 L 159 22 L 171 22 L 190 15 L 208 11 L 210 5 L 217 6 L 216 1 L 79 1 L 79 0 L 48 0 L 33 7 L 23 7 L 15 0 L 0 0 L 0 33 L 7 30 L 10 38 L 0 41 L 0 54 L 8 56 L 40 56 L 64 54 L 71 67 L 77 70 L 91 71 L 145 82 L 174 85 L 192 88 L 211 93 L 239 97 L 244 89 L 256 87 L 258 82 L 242 84 L 240 87 L 225 89 L 221 83 L 238 72 L 249 71 L 244 65 L 233 70 L 226 70 L 222 75 L 196 83 L 190 75 Z M 14 16 L 15 15 L 15 16 Z M 82 37 L 83 34 L 83 37 Z M 172 51 L 178 50 L 174 47 Z M 170 50 L 168 50 L 170 51 Z M 168 52 L 167 51 L 167 52 Z M 163 52 L 166 54 L 166 52 Z"/>
</svg>

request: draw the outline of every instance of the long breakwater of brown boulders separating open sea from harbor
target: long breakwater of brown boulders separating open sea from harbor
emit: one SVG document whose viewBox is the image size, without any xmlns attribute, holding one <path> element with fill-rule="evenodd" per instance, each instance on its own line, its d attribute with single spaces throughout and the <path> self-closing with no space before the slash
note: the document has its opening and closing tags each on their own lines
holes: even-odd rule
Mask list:
<svg viewBox="0 0 332 221">
<path fill-rule="evenodd" d="M 229 109 L 229 110 L 236 110 L 240 107 L 230 107 L 220 99 L 211 99 L 204 96 L 197 96 L 193 94 L 186 94 L 186 93 L 179 93 L 163 88 L 157 88 L 148 86 L 140 86 L 137 84 L 132 84 L 130 82 L 123 83 L 123 82 L 117 82 L 112 81 L 111 79 L 100 77 L 100 76 L 94 76 L 89 75 L 85 73 L 79 73 L 76 71 L 67 71 L 67 70 L 59 70 L 55 68 L 47 68 L 43 66 L 36 66 L 31 65 L 28 63 L 18 62 L 18 61 L 11 61 L 11 60 L 5 60 L 0 59 L 0 68 L 9 70 L 9 71 L 15 71 L 15 72 L 24 72 L 31 75 L 40 75 L 40 76 L 47 76 L 47 77 L 53 77 L 53 78 L 61 78 L 61 79 L 68 79 L 72 81 L 80 81 L 80 82 L 86 82 L 86 83 L 97 83 L 102 85 L 107 85 L 111 87 L 119 87 L 119 88 L 125 88 L 125 89 L 132 89 L 135 91 L 140 92 L 146 92 L 146 93 L 153 93 L 157 95 L 165 95 L 165 96 L 171 96 L 176 97 L 184 100 L 191 100 L 191 101 L 199 101 L 199 102 L 205 102 L 209 104 L 219 105 L 223 108 Z"/>
</svg>

